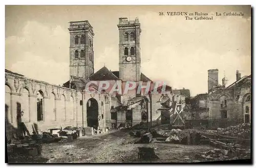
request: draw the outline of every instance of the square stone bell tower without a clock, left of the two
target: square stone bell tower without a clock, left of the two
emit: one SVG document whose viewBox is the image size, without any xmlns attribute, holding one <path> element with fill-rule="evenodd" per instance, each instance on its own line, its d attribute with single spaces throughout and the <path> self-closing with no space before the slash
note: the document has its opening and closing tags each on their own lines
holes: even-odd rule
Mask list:
<svg viewBox="0 0 256 168">
<path fill-rule="evenodd" d="M 70 76 L 87 78 L 94 73 L 93 27 L 88 20 L 69 23 Z"/>
</svg>

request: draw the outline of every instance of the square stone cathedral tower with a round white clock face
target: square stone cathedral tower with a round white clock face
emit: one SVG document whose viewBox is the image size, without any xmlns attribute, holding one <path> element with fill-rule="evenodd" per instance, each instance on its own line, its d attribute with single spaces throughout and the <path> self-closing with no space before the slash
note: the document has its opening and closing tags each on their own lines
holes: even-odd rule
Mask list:
<svg viewBox="0 0 256 168">
<path fill-rule="evenodd" d="M 139 19 L 119 18 L 119 78 L 123 81 L 139 81 L 140 23 Z"/>
</svg>

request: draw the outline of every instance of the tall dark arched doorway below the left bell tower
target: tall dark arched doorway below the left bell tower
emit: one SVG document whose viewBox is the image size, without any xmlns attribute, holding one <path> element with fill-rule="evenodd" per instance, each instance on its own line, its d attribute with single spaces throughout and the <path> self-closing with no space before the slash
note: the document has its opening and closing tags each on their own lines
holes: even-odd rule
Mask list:
<svg viewBox="0 0 256 168">
<path fill-rule="evenodd" d="M 95 129 L 99 126 L 99 107 L 98 102 L 94 98 L 87 101 L 87 125 Z"/>
</svg>

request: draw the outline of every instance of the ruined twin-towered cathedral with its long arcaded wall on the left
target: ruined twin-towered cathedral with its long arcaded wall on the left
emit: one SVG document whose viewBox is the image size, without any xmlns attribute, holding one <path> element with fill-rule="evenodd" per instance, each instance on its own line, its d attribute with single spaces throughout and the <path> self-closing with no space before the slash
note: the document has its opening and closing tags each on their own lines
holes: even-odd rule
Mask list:
<svg viewBox="0 0 256 168">
<path fill-rule="evenodd" d="M 166 86 L 166 94 L 116 94 L 88 93 L 84 87 L 89 81 L 151 81 L 141 72 L 139 19 L 119 18 L 119 71 L 102 67 L 94 72 L 93 27 L 86 21 L 72 21 L 70 32 L 70 80 L 63 86 L 27 78 L 9 70 L 5 71 L 6 130 L 13 132 L 24 123 L 32 132 L 36 129 L 66 126 L 105 128 L 153 126 L 170 106 L 164 106 L 173 94 Z M 117 44 L 118 45 L 118 44 Z M 153 81 L 151 81 L 153 82 Z M 97 89 L 95 86 L 94 89 Z M 161 89 L 161 87 L 159 87 Z M 175 97 L 184 101 L 184 96 Z M 168 118 L 168 113 L 166 115 Z M 163 122 L 163 120 L 162 120 Z"/>
</svg>

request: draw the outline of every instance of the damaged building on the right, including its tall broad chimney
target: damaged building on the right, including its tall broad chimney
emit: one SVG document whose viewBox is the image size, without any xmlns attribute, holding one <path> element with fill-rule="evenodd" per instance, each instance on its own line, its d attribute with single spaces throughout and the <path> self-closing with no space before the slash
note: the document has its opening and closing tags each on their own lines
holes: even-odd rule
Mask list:
<svg viewBox="0 0 256 168">
<path fill-rule="evenodd" d="M 241 77 L 227 85 L 227 78 L 219 84 L 219 70 L 208 70 L 208 93 L 192 98 L 195 120 L 205 127 L 226 127 L 251 122 L 251 75 Z"/>
</svg>

